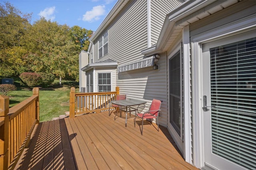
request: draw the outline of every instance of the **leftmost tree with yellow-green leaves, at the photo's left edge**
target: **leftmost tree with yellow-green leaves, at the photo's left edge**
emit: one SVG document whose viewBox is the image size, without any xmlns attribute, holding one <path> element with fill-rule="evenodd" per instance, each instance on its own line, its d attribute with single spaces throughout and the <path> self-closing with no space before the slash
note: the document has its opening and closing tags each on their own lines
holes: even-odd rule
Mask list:
<svg viewBox="0 0 256 170">
<path fill-rule="evenodd" d="M 26 70 L 21 38 L 30 26 L 31 14 L 22 14 L 10 3 L 0 4 L 0 76 L 15 76 Z"/>
</svg>

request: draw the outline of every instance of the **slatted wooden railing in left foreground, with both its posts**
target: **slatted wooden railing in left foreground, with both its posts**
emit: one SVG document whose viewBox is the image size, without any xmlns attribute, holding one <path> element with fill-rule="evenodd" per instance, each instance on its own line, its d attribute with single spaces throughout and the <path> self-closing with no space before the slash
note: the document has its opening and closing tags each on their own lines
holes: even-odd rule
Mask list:
<svg viewBox="0 0 256 170">
<path fill-rule="evenodd" d="M 0 170 L 15 168 L 32 131 L 39 123 L 39 89 L 9 109 L 9 97 L 0 95 Z"/>
</svg>

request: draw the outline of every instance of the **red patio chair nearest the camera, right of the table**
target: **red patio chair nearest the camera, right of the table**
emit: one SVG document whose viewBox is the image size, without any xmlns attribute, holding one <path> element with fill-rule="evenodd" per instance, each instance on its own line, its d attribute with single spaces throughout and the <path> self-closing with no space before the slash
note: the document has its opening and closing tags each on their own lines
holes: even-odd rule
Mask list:
<svg viewBox="0 0 256 170">
<path fill-rule="evenodd" d="M 156 119 L 157 130 L 159 132 L 158 115 L 159 115 L 161 104 L 162 104 L 162 101 L 153 99 L 148 111 L 146 111 L 145 113 L 136 113 L 136 111 L 135 111 L 134 127 L 135 127 L 135 123 L 137 123 L 136 118 L 139 118 L 142 121 L 141 135 L 143 133 L 143 120 L 144 119 L 150 119 L 150 121 L 151 121 L 151 119 Z M 150 124 L 152 124 L 152 122 Z"/>
</svg>

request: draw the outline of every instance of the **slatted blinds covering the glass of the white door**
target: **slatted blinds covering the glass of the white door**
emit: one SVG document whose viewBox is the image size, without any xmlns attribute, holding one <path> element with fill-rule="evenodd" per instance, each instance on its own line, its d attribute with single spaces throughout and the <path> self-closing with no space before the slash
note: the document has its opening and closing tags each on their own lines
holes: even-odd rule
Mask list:
<svg viewBox="0 0 256 170">
<path fill-rule="evenodd" d="M 210 49 L 212 152 L 256 168 L 256 38 Z"/>
</svg>

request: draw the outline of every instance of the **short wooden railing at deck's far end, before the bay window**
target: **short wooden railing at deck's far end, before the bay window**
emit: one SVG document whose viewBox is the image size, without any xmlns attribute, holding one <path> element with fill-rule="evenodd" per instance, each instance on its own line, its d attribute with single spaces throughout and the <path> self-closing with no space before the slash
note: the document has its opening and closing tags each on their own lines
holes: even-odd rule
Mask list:
<svg viewBox="0 0 256 170">
<path fill-rule="evenodd" d="M 75 93 L 75 88 L 71 87 L 69 117 L 74 118 L 76 115 L 84 113 L 99 113 L 109 110 L 110 102 L 116 99 L 117 94 L 119 94 L 119 87 L 116 87 L 116 91 L 95 93 Z M 110 109 L 114 109 L 114 107 L 110 107 Z"/>
</svg>

